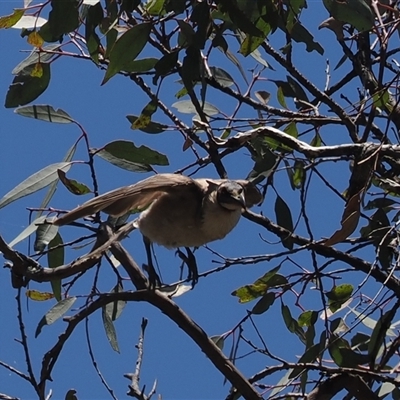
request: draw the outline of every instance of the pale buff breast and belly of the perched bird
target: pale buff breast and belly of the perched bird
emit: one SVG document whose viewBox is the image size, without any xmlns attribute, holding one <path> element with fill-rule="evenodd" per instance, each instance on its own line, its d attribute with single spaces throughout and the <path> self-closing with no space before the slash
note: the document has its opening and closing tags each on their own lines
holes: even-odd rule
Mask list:
<svg viewBox="0 0 400 400">
<path fill-rule="evenodd" d="M 226 210 L 215 202 L 195 196 L 164 195 L 138 220 L 141 233 L 168 248 L 198 247 L 224 238 L 238 223 L 241 210 Z"/>
</svg>

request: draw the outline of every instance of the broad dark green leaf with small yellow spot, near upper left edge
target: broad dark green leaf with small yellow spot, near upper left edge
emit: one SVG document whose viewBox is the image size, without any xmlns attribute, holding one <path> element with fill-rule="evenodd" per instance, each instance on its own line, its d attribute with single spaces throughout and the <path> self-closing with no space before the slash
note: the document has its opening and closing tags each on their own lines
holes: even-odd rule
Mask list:
<svg viewBox="0 0 400 400">
<path fill-rule="evenodd" d="M 37 66 L 41 68 L 41 74 L 35 75 Z M 49 86 L 50 83 L 50 64 L 37 63 L 28 66 L 17 75 L 8 88 L 5 107 L 12 108 L 23 106 L 39 97 Z"/>
</svg>

